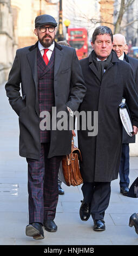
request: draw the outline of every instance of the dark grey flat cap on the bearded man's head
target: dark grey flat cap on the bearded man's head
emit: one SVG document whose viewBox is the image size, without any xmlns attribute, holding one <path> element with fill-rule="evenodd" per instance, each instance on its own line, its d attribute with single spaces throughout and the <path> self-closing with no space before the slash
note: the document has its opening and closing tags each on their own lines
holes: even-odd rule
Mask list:
<svg viewBox="0 0 138 256">
<path fill-rule="evenodd" d="M 48 14 L 43 14 L 43 15 L 40 15 L 40 16 L 36 17 L 36 19 L 35 19 L 35 28 L 41 27 L 41 26 L 46 25 L 46 24 L 50 24 L 50 25 L 55 26 L 55 27 L 57 26 L 57 22 L 54 19 L 54 17 L 52 17 Z"/>
</svg>

